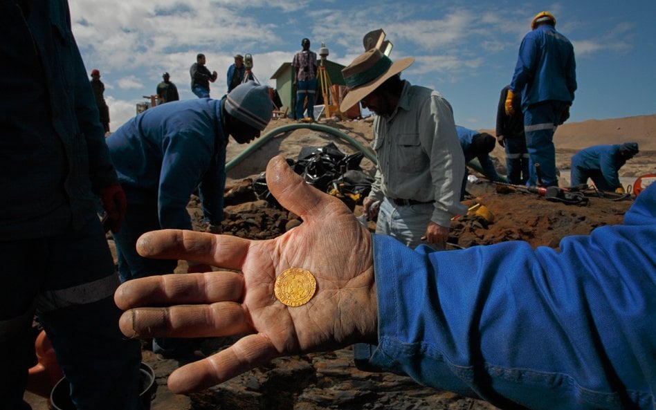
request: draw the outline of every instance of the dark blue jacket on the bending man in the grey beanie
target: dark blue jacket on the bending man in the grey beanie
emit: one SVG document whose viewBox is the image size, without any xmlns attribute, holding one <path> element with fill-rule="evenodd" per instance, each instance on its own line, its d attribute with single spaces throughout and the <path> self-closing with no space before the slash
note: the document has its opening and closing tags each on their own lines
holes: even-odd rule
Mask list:
<svg viewBox="0 0 656 410">
<path fill-rule="evenodd" d="M 186 209 L 199 187 L 203 214 L 223 221 L 226 144 L 223 100 L 199 98 L 147 109 L 107 138 L 130 203 L 157 205 L 162 228 L 192 229 Z"/>
</svg>

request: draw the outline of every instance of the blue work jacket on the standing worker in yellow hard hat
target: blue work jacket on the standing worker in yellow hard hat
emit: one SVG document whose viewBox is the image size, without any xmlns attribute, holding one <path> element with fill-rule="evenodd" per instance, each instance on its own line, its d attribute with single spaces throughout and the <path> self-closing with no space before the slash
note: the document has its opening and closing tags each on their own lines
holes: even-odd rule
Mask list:
<svg viewBox="0 0 656 410">
<path fill-rule="evenodd" d="M 574 101 L 576 61 L 570 40 L 548 24 L 527 33 L 510 89 L 522 93 L 522 111 L 547 100 Z"/>
</svg>

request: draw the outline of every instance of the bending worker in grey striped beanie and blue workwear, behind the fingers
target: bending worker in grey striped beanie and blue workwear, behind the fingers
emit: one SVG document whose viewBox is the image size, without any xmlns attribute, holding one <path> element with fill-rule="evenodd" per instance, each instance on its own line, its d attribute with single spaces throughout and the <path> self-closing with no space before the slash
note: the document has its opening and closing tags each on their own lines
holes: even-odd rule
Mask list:
<svg viewBox="0 0 656 410">
<path fill-rule="evenodd" d="M 228 136 L 239 144 L 258 138 L 273 104 L 268 86 L 246 82 L 221 100 L 174 101 L 148 109 L 107 138 L 111 159 L 127 196 L 127 212 L 114 234 L 120 279 L 172 273 L 176 260 L 140 257 L 136 242 L 145 232 L 191 230 L 187 204 L 198 187 L 208 230 L 221 233 Z M 189 272 L 208 265 L 190 263 Z M 154 353 L 183 357 L 184 341 L 155 339 Z"/>
</svg>

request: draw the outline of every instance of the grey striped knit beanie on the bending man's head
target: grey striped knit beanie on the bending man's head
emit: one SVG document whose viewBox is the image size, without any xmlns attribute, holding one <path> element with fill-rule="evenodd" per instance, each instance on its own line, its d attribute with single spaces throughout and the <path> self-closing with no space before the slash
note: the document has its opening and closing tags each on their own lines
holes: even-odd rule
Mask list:
<svg viewBox="0 0 656 410">
<path fill-rule="evenodd" d="M 226 97 L 226 111 L 250 127 L 264 130 L 273 115 L 268 86 L 261 86 L 254 81 L 239 84 Z"/>
</svg>

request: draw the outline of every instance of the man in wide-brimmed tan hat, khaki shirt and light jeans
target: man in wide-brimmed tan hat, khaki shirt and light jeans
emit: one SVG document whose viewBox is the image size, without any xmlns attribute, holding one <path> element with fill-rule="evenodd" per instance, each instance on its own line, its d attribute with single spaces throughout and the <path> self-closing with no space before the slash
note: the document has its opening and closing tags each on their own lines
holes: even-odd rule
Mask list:
<svg viewBox="0 0 656 410">
<path fill-rule="evenodd" d="M 349 93 L 340 110 L 360 102 L 376 114 L 376 180 L 364 201 L 365 212 L 381 201 L 376 232 L 411 248 L 426 241 L 444 249 L 451 218 L 467 210 L 459 203 L 464 156 L 450 104 L 401 80 L 413 62 L 392 62 L 376 48 L 357 57 L 342 71 Z"/>
</svg>

